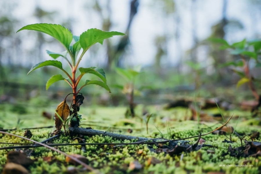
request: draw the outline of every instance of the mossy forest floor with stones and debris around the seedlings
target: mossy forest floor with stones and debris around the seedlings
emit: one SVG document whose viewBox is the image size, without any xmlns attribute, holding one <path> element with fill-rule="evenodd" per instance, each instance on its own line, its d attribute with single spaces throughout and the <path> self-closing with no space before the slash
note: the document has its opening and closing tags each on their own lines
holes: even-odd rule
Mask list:
<svg viewBox="0 0 261 174">
<path fill-rule="evenodd" d="M 32 101 L 35 104 L 34 101 Z M 53 119 L 42 116 L 42 112 L 52 112 L 56 106 L 23 108 L 9 104 L 0 105 L 0 127 L 18 128 L 10 133 L 23 136 L 22 128 L 54 126 Z M 136 107 L 136 114 L 142 115 L 143 105 Z M 146 106 L 148 113 L 154 113 L 148 123 L 148 133 L 143 117 L 126 118 L 124 113 L 126 107 L 102 107 L 102 106 L 82 106 L 79 114 L 86 120 L 81 121 L 83 128 L 91 127 L 101 131 L 109 131 L 124 135 L 133 135 L 149 138 L 179 139 L 208 133 L 224 124 L 224 120 L 232 119 L 227 126 L 232 126 L 239 135 L 247 135 L 244 139 L 251 142 L 255 132 L 261 131 L 260 116 L 251 117 L 250 111 L 229 110 L 223 111 L 220 115 L 218 108 L 208 110 L 198 110 L 197 117 L 191 120 L 191 109 L 170 108 L 164 109 L 165 105 Z M 215 117 L 214 117 L 215 116 Z M 49 137 L 53 128 L 31 129 L 31 139 L 41 142 Z M 217 132 L 215 132 L 217 133 Z M 233 132 L 231 131 L 231 134 Z M 225 134 L 225 135 L 221 135 Z M 73 140 L 76 135 L 70 137 L 65 134 L 59 138 L 51 140 L 49 143 L 78 143 L 79 139 Z M 116 140 L 111 137 L 83 136 L 86 143 L 126 143 L 129 140 Z M 245 149 L 249 149 L 243 140 L 244 149 L 236 149 L 241 146 L 241 141 L 235 133 L 232 135 L 232 143 L 222 142 L 229 140 L 229 127 L 223 127 L 217 134 L 209 134 L 201 137 L 197 148 L 180 150 L 173 152 L 175 146 L 189 147 L 197 142 L 198 138 L 186 139 L 186 141 L 169 142 L 167 144 L 140 144 L 113 147 L 112 145 L 86 145 L 59 146 L 55 147 L 67 154 L 79 154 L 87 158 L 86 162 L 91 167 L 98 169 L 100 173 L 260 173 L 261 172 L 261 144 L 250 147 L 251 151 L 258 154 L 249 155 Z M 255 138 L 255 137 L 254 137 Z M 254 139 L 261 142 L 261 138 Z M 31 143 L 27 140 L 0 134 L 0 142 L 9 143 Z M 133 140 L 132 142 L 135 142 Z M 176 144 L 177 143 L 177 144 Z M 174 144 L 174 145 L 173 145 Z M 200 146 L 202 144 L 211 146 Z M 12 144 L 0 144 L 0 147 L 13 146 Z M 256 149 L 255 149 L 256 148 Z M 181 148 L 182 149 L 182 148 Z M 15 150 L 15 149 L 13 149 Z M 0 172 L 7 162 L 8 150 L 0 150 Z M 35 147 L 22 149 L 33 163 L 26 166 L 30 173 L 86 173 L 81 166 L 66 162 L 66 157 L 57 152 L 53 152 L 45 147 Z M 250 151 L 249 150 L 249 151 Z M 259 151 L 258 151 L 259 150 Z M 247 166 L 236 166 L 236 165 Z M 252 165 L 252 166 L 248 166 Z"/>
</svg>

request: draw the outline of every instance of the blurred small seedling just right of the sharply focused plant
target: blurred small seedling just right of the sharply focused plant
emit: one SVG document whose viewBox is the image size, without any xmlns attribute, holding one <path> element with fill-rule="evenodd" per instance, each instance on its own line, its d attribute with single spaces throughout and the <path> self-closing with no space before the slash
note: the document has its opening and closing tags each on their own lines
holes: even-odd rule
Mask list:
<svg viewBox="0 0 261 174">
<path fill-rule="evenodd" d="M 119 88 L 122 89 L 122 92 L 125 93 L 128 98 L 129 108 L 125 113 L 126 117 L 128 117 L 129 115 L 131 117 L 135 116 L 134 93 L 137 92 L 137 90 L 135 90 L 134 84 L 135 84 L 135 77 L 141 74 L 140 68 L 137 69 L 138 70 L 116 68 L 116 72 L 127 80 L 127 83 L 124 86 L 118 86 Z"/>
</svg>

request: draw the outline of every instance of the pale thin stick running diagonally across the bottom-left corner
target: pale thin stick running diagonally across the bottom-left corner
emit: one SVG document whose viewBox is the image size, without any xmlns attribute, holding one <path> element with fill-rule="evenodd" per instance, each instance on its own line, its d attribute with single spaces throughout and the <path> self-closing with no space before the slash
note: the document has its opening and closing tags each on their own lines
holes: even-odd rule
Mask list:
<svg viewBox="0 0 261 174">
<path fill-rule="evenodd" d="M 49 148 L 49 149 L 51 149 L 51 150 L 53 150 L 53 151 L 56 151 L 56 152 L 58 152 L 58 153 L 61 153 L 61 154 L 65 155 L 65 156 L 69 157 L 70 159 L 72 159 L 72 160 L 74 160 L 75 162 L 77 162 L 77 163 L 81 164 L 82 166 L 84 166 L 86 169 L 88 169 L 88 170 L 90 170 L 90 171 L 94 171 L 95 173 L 99 173 L 98 171 L 96 171 L 96 170 L 95 170 L 94 168 L 92 168 L 91 166 L 89 166 L 89 165 L 85 164 L 84 162 L 78 160 L 77 158 L 73 157 L 72 155 L 68 155 L 67 153 L 64 153 L 64 152 L 62 152 L 62 151 L 59 151 L 59 150 L 56 149 L 56 148 L 50 147 L 50 146 L 48 146 L 48 145 L 46 145 L 46 144 L 37 142 L 37 141 L 35 141 L 35 140 L 29 139 L 29 138 L 26 138 L 26 137 L 22 137 L 22 136 L 19 136 L 19 135 L 14 135 L 14 134 L 12 134 L 12 133 L 7 133 L 7 132 L 3 132 L 3 131 L 0 131 L 0 133 L 6 134 L 6 135 L 11 135 L 11 136 L 14 136 L 14 137 L 19 137 L 19 138 L 22 138 L 22 139 L 26 139 L 26 140 L 28 140 L 28 141 L 34 142 L 34 143 L 36 143 L 36 144 L 39 144 L 39 145 L 41 145 L 41 146 L 45 146 L 45 147 L 47 147 L 47 148 Z"/>
</svg>

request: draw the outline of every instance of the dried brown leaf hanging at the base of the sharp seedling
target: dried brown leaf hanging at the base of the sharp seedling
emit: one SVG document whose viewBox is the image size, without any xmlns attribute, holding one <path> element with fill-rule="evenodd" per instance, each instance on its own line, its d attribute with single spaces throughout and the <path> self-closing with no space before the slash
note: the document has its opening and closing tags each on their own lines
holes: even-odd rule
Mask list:
<svg viewBox="0 0 261 174">
<path fill-rule="evenodd" d="M 56 112 L 59 114 L 59 116 L 63 119 L 66 120 L 69 113 L 70 113 L 70 108 L 66 101 L 62 101 L 56 108 Z M 56 131 L 60 131 L 62 128 L 63 122 L 60 120 L 60 118 L 55 114 L 55 127 Z"/>
</svg>

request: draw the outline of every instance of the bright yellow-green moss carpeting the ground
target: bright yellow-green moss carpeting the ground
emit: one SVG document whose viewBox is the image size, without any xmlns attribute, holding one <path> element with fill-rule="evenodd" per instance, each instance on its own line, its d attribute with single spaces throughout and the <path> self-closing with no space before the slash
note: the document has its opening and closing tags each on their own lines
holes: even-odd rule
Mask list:
<svg viewBox="0 0 261 174">
<path fill-rule="evenodd" d="M 52 106 L 50 108 L 55 108 Z M 143 106 L 137 107 L 137 114 L 142 113 Z M 46 109 L 46 108 L 45 108 Z M 95 113 L 93 110 L 95 109 Z M 184 138 L 189 136 L 198 135 L 200 132 L 207 133 L 212 129 L 220 126 L 221 124 L 216 124 L 216 122 L 204 122 L 204 124 L 198 124 L 197 121 L 187 120 L 190 112 L 183 108 L 174 108 L 171 110 L 163 110 L 161 107 L 148 106 L 147 110 L 150 113 L 156 113 L 156 116 L 151 118 L 148 129 L 149 133 L 146 133 L 145 123 L 135 117 L 133 119 L 126 119 L 124 116 L 125 107 L 87 107 L 81 108 L 81 114 L 83 118 L 87 118 L 81 122 L 82 126 L 89 127 L 93 129 L 99 129 L 102 131 L 110 131 L 114 133 L 121 133 L 127 135 L 143 136 L 143 137 L 160 137 L 159 131 L 163 133 L 165 137 L 167 135 L 166 120 L 171 128 L 171 136 L 175 138 Z M 48 120 L 41 116 L 41 112 L 44 108 L 28 108 L 28 114 L 18 115 L 17 113 L 11 113 L 10 109 L 7 107 L 4 111 L 0 111 L 2 115 L 10 115 L 10 118 L 4 119 L 6 124 L 4 128 L 16 127 L 17 120 L 21 119 L 24 124 L 20 128 L 25 127 L 37 127 L 37 126 L 49 126 L 54 125 L 53 120 Z M 207 112 L 215 113 L 216 110 L 208 110 Z M 3 114 L 4 113 L 4 114 Z M 226 113 L 225 116 L 230 116 L 232 113 Z M 239 123 L 236 127 L 238 133 L 251 133 L 251 131 L 260 130 L 260 126 L 250 126 L 250 122 L 257 122 L 259 119 L 249 119 L 249 122 L 243 122 L 250 118 L 250 114 L 246 112 L 237 111 L 237 115 L 240 115 Z M 3 119 L 5 117 L 1 117 Z M 32 119 L 33 118 L 33 119 Z M 228 119 L 228 117 L 226 117 Z M 33 121 L 32 121 L 33 120 Z M 182 122 L 181 122 L 182 121 Z M 221 120 L 222 121 L 222 120 Z M 238 118 L 232 119 L 229 123 L 235 128 Z M 131 124 L 125 124 L 125 123 Z M 86 125 L 85 125 L 86 124 Z M 88 124 L 88 125 L 87 125 Z M 213 126 L 214 125 L 214 126 Z M 254 125 L 254 124 L 253 124 Z M 208 126 L 211 126 L 209 128 Z M 128 133 L 127 129 L 131 128 L 133 133 Z M 49 133 L 53 132 L 52 128 L 46 129 L 32 129 L 33 136 L 32 139 L 36 141 L 43 141 L 50 137 Z M 22 135 L 24 130 L 11 131 L 11 133 Z M 59 146 L 57 149 L 64 151 L 68 154 L 80 154 L 85 156 L 89 160 L 89 165 L 97 168 L 102 173 L 208 173 L 221 171 L 224 173 L 258 173 L 261 166 L 261 157 L 253 158 L 235 158 L 229 155 L 222 157 L 222 154 L 227 152 L 229 145 L 233 148 L 241 146 L 241 142 L 235 135 L 232 140 L 235 141 L 233 144 L 222 143 L 224 139 L 227 139 L 224 135 L 213 135 L 209 134 L 204 137 L 206 140 L 205 144 L 210 144 L 215 146 L 215 148 L 203 147 L 199 151 L 193 151 L 190 153 L 183 153 L 183 158 L 181 160 L 181 154 L 179 155 L 168 155 L 166 153 L 154 153 L 148 148 L 148 145 L 125 145 L 120 147 L 112 147 L 109 145 L 105 146 L 86 146 L 86 151 L 81 150 L 81 146 Z M 66 135 L 61 135 L 59 138 L 52 140 L 52 143 L 77 143 L 78 140 L 72 140 L 73 137 L 68 137 Z M 96 136 L 84 136 L 86 143 L 120 143 L 120 142 L 134 142 L 129 140 L 116 140 L 111 137 L 102 137 L 101 135 Z M 246 137 L 249 140 L 249 136 Z M 197 138 L 188 139 L 189 144 L 195 143 Z M 259 138 L 258 141 L 261 141 Z M 11 137 L 8 135 L 0 135 L 0 142 L 16 142 L 16 143 L 28 143 L 28 141 Z M 6 146 L 5 144 L 0 144 L 0 147 Z M 157 148 L 152 145 L 153 148 Z M 214 154 L 207 153 L 206 150 L 215 151 Z M 10 150 L 8 150 L 10 151 Z M 6 155 L 8 151 L 0 151 L 0 172 L 3 170 L 3 166 L 6 163 Z M 43 157 L 52 157 L 52 162 L 46 162 Z M 155 157 L 160 160 L 160 164 L 149 164 L 148 159 Z M 31 173 L 66 173 L 67 167 L 72 166 L 65 162 L 64 155 L 57 152 L 50 151 L 45 147 L 34 148 L 33 153 L 31 153 L 31 158 L 36 159 L 33 165 L 28 169 Z M 249 160 L 248 164 L 253 164 L 253 167 L 222 167 L 221 164 L 243 164 L 245 160 Z M 142 164 L 142 169 L 140 170 L 130 170 L 129 164 L 133 161 L 139 161 Z M 81 166 L 76 166 L 80 169 Z"/>
</svg>

